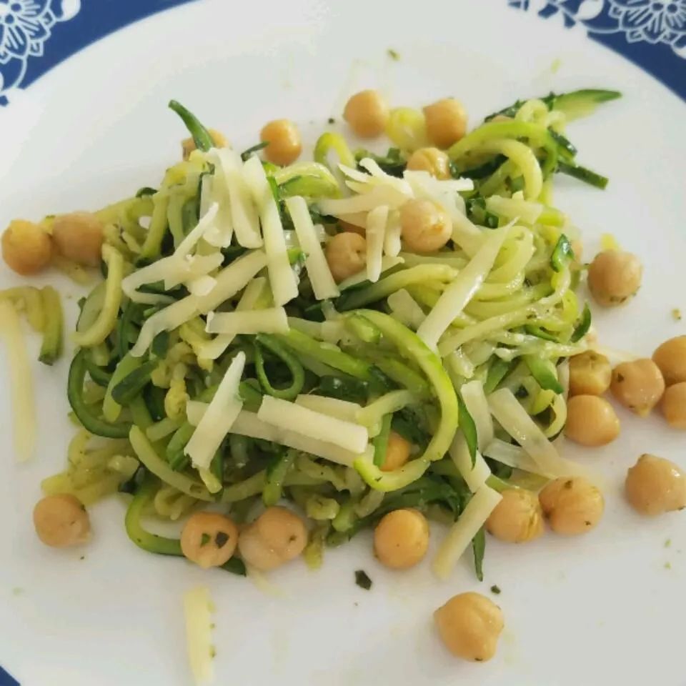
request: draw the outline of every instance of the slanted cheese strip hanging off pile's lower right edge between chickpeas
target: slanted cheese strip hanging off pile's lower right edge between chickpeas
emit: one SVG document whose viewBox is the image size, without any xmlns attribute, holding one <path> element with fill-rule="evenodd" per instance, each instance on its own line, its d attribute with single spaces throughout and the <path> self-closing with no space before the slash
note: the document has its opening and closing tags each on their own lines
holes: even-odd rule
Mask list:
<svg viewBox="0 0 686 686">
<path fill-rule="evenodd" d="M 501 499 L 502 495 L 488 486 L 482 486 L 474 493 L 462 515 L 459 515 L 459 520 L 450 527 L 434 557 L 432 567 L 439 579 L 446 580 L 449 577 L 457 560 L 462 557 L 472 538 L 477 535 Z"/>
</svg>

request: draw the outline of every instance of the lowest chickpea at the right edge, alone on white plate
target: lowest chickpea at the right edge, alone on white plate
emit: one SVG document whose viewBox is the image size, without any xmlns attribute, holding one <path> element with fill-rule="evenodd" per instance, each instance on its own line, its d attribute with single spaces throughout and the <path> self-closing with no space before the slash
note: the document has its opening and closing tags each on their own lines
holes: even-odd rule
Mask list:
<svg viewBox="0 0 686 686">
<path fill-rule="evenodd" d="M 661 515 L 686 507 L 686 474 L 674 462 L 645 454 L 627 471 L 625 493 L 642 515 Z"/>
</svg>

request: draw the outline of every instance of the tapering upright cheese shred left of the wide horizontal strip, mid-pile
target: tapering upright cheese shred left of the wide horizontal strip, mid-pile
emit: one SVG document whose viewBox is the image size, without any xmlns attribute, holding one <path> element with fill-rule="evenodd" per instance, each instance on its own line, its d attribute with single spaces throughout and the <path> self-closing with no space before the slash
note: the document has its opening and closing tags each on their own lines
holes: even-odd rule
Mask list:
<svg viewBox="0 0 686 686">
<path fill-rule="evenodd" d="M 214 453 L 231 430 L 243 407 L 238 387 L 245 367 L 245 353 L 239 352 L 219 383 L 202 419 L 193 432 L 184 452 L 192 459 L 193 466 L 209 469 Z"/>
</svg>

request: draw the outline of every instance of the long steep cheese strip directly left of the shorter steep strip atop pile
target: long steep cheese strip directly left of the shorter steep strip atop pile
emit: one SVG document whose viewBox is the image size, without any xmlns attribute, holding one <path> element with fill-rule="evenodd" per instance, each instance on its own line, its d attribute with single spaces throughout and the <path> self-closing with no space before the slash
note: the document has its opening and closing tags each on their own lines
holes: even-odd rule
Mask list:
<svg viewBox="0 0 686 686">
<path fill-rule="evenodd" d="M 284 305 L 298 295 L 298 284 L 291 269 L 279 208 L 264 173 L 262 161 L 252 156 L 243 165 L 244 178 L 259 209 L 264 250 L 267 252 L 269 284 L 275 305 Z"/>
</svg>

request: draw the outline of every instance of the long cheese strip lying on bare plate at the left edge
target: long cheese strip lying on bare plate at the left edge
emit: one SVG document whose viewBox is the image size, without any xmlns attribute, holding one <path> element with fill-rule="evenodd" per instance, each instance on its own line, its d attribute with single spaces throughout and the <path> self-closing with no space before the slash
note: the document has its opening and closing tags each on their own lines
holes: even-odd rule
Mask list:
<svg viewBox="0 0 686 686">
<path fill-rule="evenodd" d="M 34 379 L 19 314 L 3 300 L 0 300 L 0 338 L 4 339 L 7 350 L 14 449 L 17 459 L 25 462 L 34 455 L 38 434 Z"/>
</svg>

